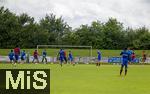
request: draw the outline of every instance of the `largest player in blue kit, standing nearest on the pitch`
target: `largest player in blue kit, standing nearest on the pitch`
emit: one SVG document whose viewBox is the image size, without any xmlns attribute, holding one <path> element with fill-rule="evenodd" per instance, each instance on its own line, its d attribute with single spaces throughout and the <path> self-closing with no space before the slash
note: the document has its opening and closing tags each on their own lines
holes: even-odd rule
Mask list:
<svg viewBox="0 0 150 94">
<path fill-rule="evenodd" d="M 122 74 L 123 68 L 125 66 L 125 75 L 127 75 L 127 68 L 128 68 L 128 61 L 129 61 L 129 53 L 127 51 L 127 48 L 125 48 L 120 55 L 122 56 L 122 64 L 120 69 L 120 75 Z"/>
</svg>

